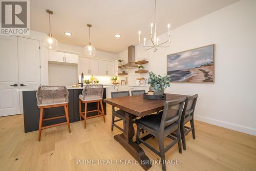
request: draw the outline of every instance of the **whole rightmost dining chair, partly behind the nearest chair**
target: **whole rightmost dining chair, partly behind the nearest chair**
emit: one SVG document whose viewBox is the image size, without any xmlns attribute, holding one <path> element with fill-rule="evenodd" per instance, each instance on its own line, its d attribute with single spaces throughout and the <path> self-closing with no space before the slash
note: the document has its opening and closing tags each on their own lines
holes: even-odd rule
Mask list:
<svg viewBox="0 0 256 171">
<path fill-rule="evenodd" d="M 181 124 L 180 124 L 180 131 L 181 131 L 181 139 L 182 139 L 182 146 L 183 150 L 186 150 L 186 138 L 185 136 L 192 131 L 193 139 L 196 138 L 195 134 L 195 125 L 194 125 L 194 112 L 197 103 L 198 94 L 193 96 L 189 96 L 185 100 L 185 105 L 181 115 Z M 185 126 L 186 123 L 190 122 L 190 128 Z"/>
</svg>

